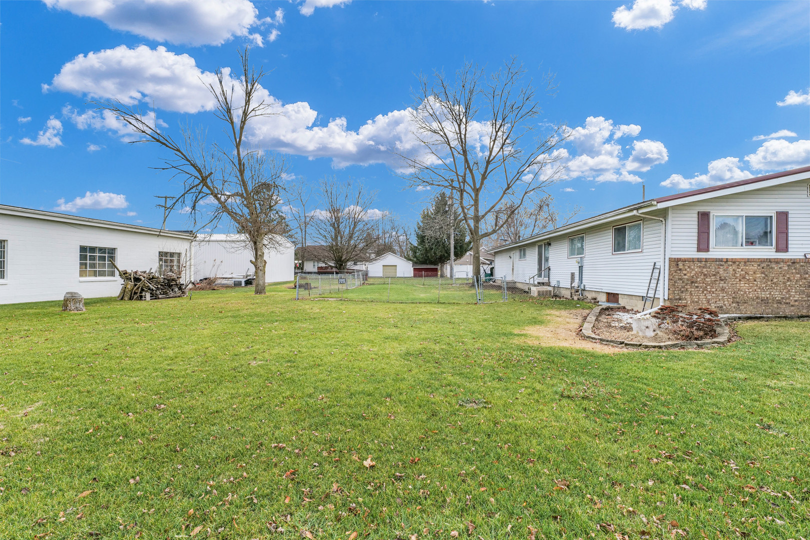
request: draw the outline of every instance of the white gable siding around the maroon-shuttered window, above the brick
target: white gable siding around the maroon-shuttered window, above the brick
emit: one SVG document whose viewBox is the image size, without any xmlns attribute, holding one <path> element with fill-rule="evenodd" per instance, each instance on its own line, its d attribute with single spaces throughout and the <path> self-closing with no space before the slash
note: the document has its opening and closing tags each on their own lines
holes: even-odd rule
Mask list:
<svg viewBox="0 0 810 540">
<path fill-rule="evenodd" d="M 810 180 L 752 189 L 723 197 L 689 202 L 670 208 L 671 248 L 669 257 L 804 257 L 810 253 Z M 787 211 L 788 251 L 774 249 L 714 248 L 714 236 L 709 252 L 697 251 L 697 212 L 714 214 L 756 214 Z M 714 227 L 714 219 L 712 220 Z M 774 223 L 774 228 L 776 224 Z M 775 230 L 774 230 L 775 235 Z"/>
</svg>

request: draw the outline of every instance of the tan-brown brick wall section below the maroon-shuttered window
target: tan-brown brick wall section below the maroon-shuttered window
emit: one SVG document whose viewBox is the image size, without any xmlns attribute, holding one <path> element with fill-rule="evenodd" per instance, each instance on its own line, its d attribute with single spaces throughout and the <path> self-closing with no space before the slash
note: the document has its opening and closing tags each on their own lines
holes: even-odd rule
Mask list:
<svg viewBox="0 0 810 540">
<path fill-rule="evenodd" d="M 669 303 L 720 313 L 810 314 L 810 259 L 669 260 Z"/>
</svg>

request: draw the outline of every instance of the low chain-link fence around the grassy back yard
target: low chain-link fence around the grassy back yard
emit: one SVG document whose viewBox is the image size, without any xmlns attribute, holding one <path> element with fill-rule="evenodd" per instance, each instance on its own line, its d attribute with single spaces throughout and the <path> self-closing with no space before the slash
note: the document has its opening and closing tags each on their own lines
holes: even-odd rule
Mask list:
<svg viewBox="0 0 810 540">
<path fill-rule="evenodd" d="M 369 277 L 365 272 L 298 274 L 296 300 L 340 299 L 372 302 L 490 304 L 529 298 L 522 288 L 499 278 Z"/>
</svg>

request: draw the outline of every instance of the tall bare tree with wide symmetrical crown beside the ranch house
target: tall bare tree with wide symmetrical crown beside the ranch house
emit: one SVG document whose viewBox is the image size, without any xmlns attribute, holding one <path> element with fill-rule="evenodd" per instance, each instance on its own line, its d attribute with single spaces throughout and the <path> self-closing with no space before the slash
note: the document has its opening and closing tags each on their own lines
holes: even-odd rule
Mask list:
<svg viewBox="0 0 810 540">
<path fill-rule="evenodd" d="M 531 80 L 515 58 L 486 77 L 466 63 L 453 77 L 434 72 L 420 76 L 416 107 L 411 109 L 413 134 L 420 155 L 400 155 L 411 185 L 437 186 L 454 193 L 470 231 L 473 272 L 480 274 L 482 240 L 496 235 L 506 219 L 532 193 L 562 172 L 554 149 L 565 140 L 562 125 L 536 129 L 542 112 Z M 542 80 L 548 92 L 553 79 Z M 499 212 L 503 203 L 512 210 Z M 489 219 L 492 216 L 493 219 Z"/>
</svg>

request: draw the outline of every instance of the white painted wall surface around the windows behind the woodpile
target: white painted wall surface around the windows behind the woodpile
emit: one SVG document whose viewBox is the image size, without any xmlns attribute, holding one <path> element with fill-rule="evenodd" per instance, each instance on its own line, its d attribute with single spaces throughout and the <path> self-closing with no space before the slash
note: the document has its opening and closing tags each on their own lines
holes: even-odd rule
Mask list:
<svg viewBox="0 0 810 540">
<path fill-rule="evenodd" d="M 79 246 L 116 249 L 122 270 L 157 270 L 158 252 L 181 253 L 191 279 L 191 239 L 150 232 L 0 214 L 0 240 L 8 240 L 8 273 L 0 304 L 62 300 L 67 291 L 85 298 L 116 296 L 120 278 L 79 278 Z"/>
</svg>

